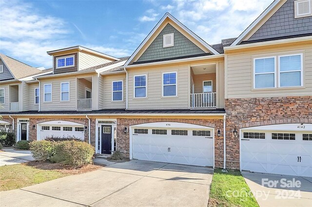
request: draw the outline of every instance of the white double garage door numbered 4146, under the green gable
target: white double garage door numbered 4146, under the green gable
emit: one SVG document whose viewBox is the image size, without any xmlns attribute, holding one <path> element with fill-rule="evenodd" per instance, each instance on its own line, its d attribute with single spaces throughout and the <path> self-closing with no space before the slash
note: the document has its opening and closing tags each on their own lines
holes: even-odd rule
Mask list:
<svg viewBox="0 0 312 207">
<path fill-rule="evenodd" d="M 167 124 L 167 127 L 161 127 L 164 124 Z M 148 127 L 143 124 L 132 128 L 134 159 L 214 166 L 212 128 L 175 122 L 153 123 L 153 125 Z"/>
</svg>

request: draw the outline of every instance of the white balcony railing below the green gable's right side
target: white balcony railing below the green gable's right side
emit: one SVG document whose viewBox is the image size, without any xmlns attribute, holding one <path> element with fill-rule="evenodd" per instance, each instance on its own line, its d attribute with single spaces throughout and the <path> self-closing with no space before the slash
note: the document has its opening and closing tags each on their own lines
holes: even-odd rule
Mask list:
<svg viewBox="0 0 312 207">
<path fill-rule="evenodd" d="M 192 93 L 191 108 L 215 108 L 216 93 Z"/>
</svg>

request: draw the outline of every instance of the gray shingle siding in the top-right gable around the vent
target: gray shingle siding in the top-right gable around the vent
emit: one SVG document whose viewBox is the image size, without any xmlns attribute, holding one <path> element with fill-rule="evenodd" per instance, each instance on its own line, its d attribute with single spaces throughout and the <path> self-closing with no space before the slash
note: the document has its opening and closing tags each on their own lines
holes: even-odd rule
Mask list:
<svg viewBox="0 0 312 207">
<path fill-rule="evenodd" d="M 294 0 L 287 0 L 247 41 L 312 33 L 312 17 L 294 18 Z"/>
</svg>

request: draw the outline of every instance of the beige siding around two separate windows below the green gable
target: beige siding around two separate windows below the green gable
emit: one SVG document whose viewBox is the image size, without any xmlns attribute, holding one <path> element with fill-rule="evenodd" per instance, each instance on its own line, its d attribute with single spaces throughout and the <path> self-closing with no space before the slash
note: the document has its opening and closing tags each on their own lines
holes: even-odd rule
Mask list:
<svg viewBox="0 0 312 207">
<path fill-rule="evenodd" d="M 162 73 L 177 72 L 177 96 L 162 97 Z M 134 75 L 147 75 L 147 98 L 134 98 Z M 129 69 L 129 109 L 179 109 L 189 107 L 190 67 L 188 65 Z"/>
</svg>

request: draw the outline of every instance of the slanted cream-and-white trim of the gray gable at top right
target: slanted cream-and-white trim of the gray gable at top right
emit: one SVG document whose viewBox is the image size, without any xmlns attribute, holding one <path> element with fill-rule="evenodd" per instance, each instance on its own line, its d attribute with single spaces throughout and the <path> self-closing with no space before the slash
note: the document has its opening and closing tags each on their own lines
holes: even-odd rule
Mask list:
<svg viewBox="0 0 312 207">
<path fill-rule="evenodd" d="M 276 7 L 280 8 L 287 0 L 274 0 L 270 6 L 258 17 L 254 20 L 254 22 L 249 25 L 249 27 L 241 34 L 237 37 L 237 39 L 231 44 L 231 46 L 235 46 L 240 44 L 243 39 L 248 36 L 250 34 L 250 32 L 252 32 L 257 26 L 259 26 L 259 24 L 261 23 L 261 21 L 267 17 L 267 15 L 273 11 L 273 9 L 276 9 Z M 272 14 L 273 15 L 273 14 Z M 272 16 L 271 15 L 271 16 Z M 255 32 L 255 31 L 254 31 Z"/>
</svg>

